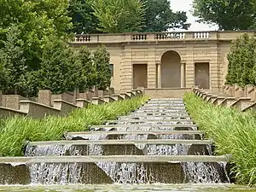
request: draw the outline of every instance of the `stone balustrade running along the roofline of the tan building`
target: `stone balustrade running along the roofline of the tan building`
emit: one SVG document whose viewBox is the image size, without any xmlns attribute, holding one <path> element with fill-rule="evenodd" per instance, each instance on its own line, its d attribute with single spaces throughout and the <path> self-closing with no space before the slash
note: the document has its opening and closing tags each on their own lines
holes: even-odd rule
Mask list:
<svg viewBox="0 0 256 192">
<path fill-rule="evenodd" d="M 233 40 L 247 32 L 254 35 L 253 31 L 237 32 L 136 32 L 113 34 L 78 34 L 72 44 L 104 44 L 125 42 L 158 42 L 158 41 L 201 41 L 201 40 Z"/>
</svg>

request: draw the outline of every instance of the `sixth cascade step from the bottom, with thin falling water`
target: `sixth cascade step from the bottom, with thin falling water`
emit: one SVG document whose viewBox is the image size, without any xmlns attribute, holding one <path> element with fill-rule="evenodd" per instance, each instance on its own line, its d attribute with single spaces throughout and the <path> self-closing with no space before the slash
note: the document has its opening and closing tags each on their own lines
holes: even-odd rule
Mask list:
<svg viewBox="0 0 256 192">
<path fill-rule="evenodd" d="M 137 115 L 129 115 L 129 116 L 119 116 L 117 118 L 118 120 L 122 121 L 122 120 L 133 120 L 133 119 L 137 119 L 137 120 L 141 120 L 141 119 L 152 119 L 152 120 L 163 120 L 163 119 L 168 119 L 168 120 L 180 120 L 180 119 L 187 119 L 187 120 L 191 120 L 191 118 L 189 116 L 179 116 L 179 115 L 176 115 L 176 116 L 162 116 L 162 115 L 159 115 L 159 116 L 153 116 L 153 115 L 140 115 L 140 116 L 137 116 Z"/>
</svg>

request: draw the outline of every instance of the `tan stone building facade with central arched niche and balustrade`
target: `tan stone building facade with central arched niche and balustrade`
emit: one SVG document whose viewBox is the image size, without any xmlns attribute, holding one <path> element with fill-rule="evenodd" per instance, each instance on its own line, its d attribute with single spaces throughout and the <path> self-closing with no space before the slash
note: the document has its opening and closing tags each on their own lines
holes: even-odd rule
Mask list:
<svg viewBox="0 0 256 192">
<path fill-rule="evenodd" d="M 72 45 L 92 51 L 105 44 L 113 69 L 112 86 L 125 91 L 191 88 L 219 90 L 227 73 L 227 55 L 238 32 L 159 32 L 77 35 Z"/>
</svg>

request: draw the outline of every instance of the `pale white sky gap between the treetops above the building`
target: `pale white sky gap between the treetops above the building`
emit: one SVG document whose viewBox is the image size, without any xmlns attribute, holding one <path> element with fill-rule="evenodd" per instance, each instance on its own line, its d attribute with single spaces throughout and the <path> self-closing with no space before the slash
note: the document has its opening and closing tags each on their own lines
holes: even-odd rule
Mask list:
<svg viewBox="0 0 256 192">
<path fill-rule="evenodd" d="M 173 11 L 186 11 L 188 16 L 188 22 L 191 23 L 189 31 L 215 31 L 218 30 L 218 26 L 209 26 L 207 24 L 198 23 L 193 15 L 189 12 L 192 9 L 193 0 L 170 0 L 171 8 Z M 177 31 L 177 30 L 176 30 Z M 180 31 L 180 30 L 179 30 Z M 183 31 L 183 30 L 182 30 Z"/>
</svg>

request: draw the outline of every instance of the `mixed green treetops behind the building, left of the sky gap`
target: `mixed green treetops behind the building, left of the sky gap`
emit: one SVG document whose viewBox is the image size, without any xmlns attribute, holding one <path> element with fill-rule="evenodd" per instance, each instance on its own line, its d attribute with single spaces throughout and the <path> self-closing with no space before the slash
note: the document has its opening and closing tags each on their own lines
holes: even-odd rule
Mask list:
<svg viewBox="0 0 256 192">
<path fill-rule="evenodd" d="M 168 0 L 73 0 L 73 32 L 166 32 L 188 29 L 185 12 L 173 12 Z"/>
</svg>

